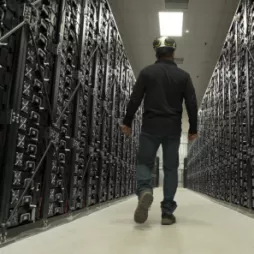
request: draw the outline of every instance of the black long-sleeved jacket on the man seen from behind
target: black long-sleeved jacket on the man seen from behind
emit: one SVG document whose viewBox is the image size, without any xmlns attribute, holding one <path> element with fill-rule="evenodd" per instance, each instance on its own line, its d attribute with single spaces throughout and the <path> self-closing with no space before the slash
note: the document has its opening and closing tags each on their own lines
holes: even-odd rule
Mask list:
<svg viewBox="0 0 254 254">
<path fill-rule="evenodd" d="M 143 132 L 181 135 L 184 99 L 189 115 L 189 133 L 197 133 L 197 99 L 191 77 L 173 61 L 159 60 L 140 72 L 123 120 L 124 125 L 131 127 L 143 98 Z"/>
</svg>

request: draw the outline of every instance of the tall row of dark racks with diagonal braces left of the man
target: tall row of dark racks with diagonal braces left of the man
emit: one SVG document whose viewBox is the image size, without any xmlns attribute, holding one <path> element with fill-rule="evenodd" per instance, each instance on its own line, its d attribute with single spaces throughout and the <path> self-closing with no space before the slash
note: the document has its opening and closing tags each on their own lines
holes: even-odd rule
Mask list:
<svg viewBox="0 0 254 254">
<path fill-rule="evenodd" d="M 135 193 L 141 110 L 106 0 L 0 0 L 0 239 Z"/>
</svg>

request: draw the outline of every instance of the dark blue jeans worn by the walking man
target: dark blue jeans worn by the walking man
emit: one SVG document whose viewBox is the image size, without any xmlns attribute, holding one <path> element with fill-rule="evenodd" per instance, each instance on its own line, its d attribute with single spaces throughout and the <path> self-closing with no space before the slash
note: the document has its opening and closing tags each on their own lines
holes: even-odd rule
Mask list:
<svg viewBox="0 0 254 254">
<path fill-rule="evenodd" d="M 145 190 L 153 190 L 152 172 L 159 146 L 163 149 L 164 199 L 163 213 L 173 213 L 177 207 L 174 197 L 178 186 L 180 137 L 169 137 L 141 133 L 137 158 L 137 195 Z"/>
</svg>

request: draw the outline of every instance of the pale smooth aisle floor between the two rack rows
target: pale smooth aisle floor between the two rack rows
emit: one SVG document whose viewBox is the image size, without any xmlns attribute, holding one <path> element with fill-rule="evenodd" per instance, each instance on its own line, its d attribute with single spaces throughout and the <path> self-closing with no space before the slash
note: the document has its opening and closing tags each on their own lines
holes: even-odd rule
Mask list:
<svg viewBox="0 0 254 254">
<path fill-rule="evenodd" d="M 160 225 L 162 190 L 149 221 L 133 223 L 136 198 L 0 249 L 1 254 L 253 254 L 254 219 L 179 189 L 178 223 Z"/>
</svg>

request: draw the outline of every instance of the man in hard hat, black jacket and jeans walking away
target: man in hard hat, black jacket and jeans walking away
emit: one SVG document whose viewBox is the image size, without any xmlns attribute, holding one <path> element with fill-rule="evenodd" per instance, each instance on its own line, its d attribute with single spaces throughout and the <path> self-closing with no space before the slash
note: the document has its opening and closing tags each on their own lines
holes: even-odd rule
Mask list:
<svg viewBox="0 0 254 254">
<path fill-rule="evenodd" d="M 160 37 L 153 43 L 157 61 L 143 69 L 133 88 L 121 129 L 131 135 L 135 113 L 144 98 L 144 114 L 137 162 L 138 206 L 136 223 L 144 223 L 153 202 L 152 170 L 157 150 L 163 148 L 164 199 L 161 202 L 162 224 L 176 222 L 173 215 L 178 186 L 178 151 L 181 137 L 183 99 L 189 116 L 189 140 L 197 137 L 197 100 L 190 75 L 174 63 L 176 42 Z"/>
</svg>

